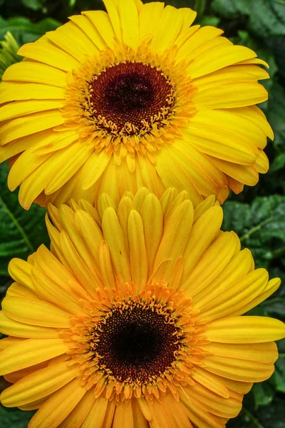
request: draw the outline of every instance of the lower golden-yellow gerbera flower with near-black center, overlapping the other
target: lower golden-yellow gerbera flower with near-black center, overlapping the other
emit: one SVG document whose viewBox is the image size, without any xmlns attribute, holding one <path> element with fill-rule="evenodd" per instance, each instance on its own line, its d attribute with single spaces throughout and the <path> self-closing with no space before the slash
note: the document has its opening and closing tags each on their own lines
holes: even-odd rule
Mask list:
<svg viewBox="0 0 285 428">
<path fill-rule="evenodd" d="M 222 233 L 209 197 L 142 188 L 50 207 L 52 253 L 14 259 L 3 300 L 4 406 L 29 428 L 222 428 L 267 379 L 281 321 L 243 316 L 279 287 Z"/>
</svg>

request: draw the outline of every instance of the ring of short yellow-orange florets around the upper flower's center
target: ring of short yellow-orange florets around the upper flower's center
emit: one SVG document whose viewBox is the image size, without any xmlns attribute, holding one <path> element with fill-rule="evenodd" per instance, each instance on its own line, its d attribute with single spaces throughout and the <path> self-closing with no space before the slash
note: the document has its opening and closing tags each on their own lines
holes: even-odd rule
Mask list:
<svg viewBox="0 0 285 428">
<path fill-rule="evenodd" d="M 171 143 L 175 138 L 182 137 L 182 128 L 188 125 L 190 118 L 196 113 L 192 102 L 192 94 L 196 88 L 192 85 L 191 78 L 185 76 L 185 66 L 170 61 L 170 57 L 169 52 L 159 56 L 153 54 L 148 44 L 139 46 L 137 50 L 118 44 L 115 49 L 108 48 L 101 52 L 98 58 L 88 58 L 68 78 L 66 105 L 62 109 L 66 118 L 64 128 L 75 128 L 80 141 L 92 145 L 98 153 L 104 150 L 110 155 L 115 152 L 118 164 L 127 154 L 135 156 L 140 153 L 151 157 L 164 143 Z M 139 129 L 134 128 L 132 123 L 125 123 L 125 126 L 118 129 L 112 121 L 97 116 L 90 97 L 90 83 L 100 73 L 126 62 L 142 63 L 154 68 L 165 76 L 170 87 L 165 106 L 150 120 L 142 120 Z"/>
</svg>

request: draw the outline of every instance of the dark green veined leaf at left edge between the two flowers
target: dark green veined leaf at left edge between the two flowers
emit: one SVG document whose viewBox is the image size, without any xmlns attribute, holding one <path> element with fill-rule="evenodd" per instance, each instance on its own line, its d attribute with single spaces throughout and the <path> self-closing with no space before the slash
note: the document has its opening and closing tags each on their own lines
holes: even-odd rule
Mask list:
<svg viewBox="0 0 285 428">
<path fill-rule="evenodd" d="M 44 216 L 45 208 L 33 204 L 30 210 L 21 208 L 18 193 L 6 185 L 8 166 L 0 165 L 0 275 L 8 275 L 11 258 L 26 259 L 42 243 L 49 245 Z"/>
</svg>

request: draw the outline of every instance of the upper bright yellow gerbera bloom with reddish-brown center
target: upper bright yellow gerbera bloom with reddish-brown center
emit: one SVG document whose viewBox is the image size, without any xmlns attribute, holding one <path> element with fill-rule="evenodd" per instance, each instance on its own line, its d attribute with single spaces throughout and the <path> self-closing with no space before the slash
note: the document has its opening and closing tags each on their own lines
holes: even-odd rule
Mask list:
<svg viewBox="0 0 285 428">
<path fill-rule="evenodd" d="M 273 133 L 255 106 L 269 75 L 196 13 L 105 0 L 21 47 L 0 86 L 0 161 L 28 208 L 145 186 L 186 189 L 196 206 L 255 185 Z M 21 156 L 19 156 L 21 153 Z M 19 157 L 18 157 L 19 156 Z"/>
</svg>

